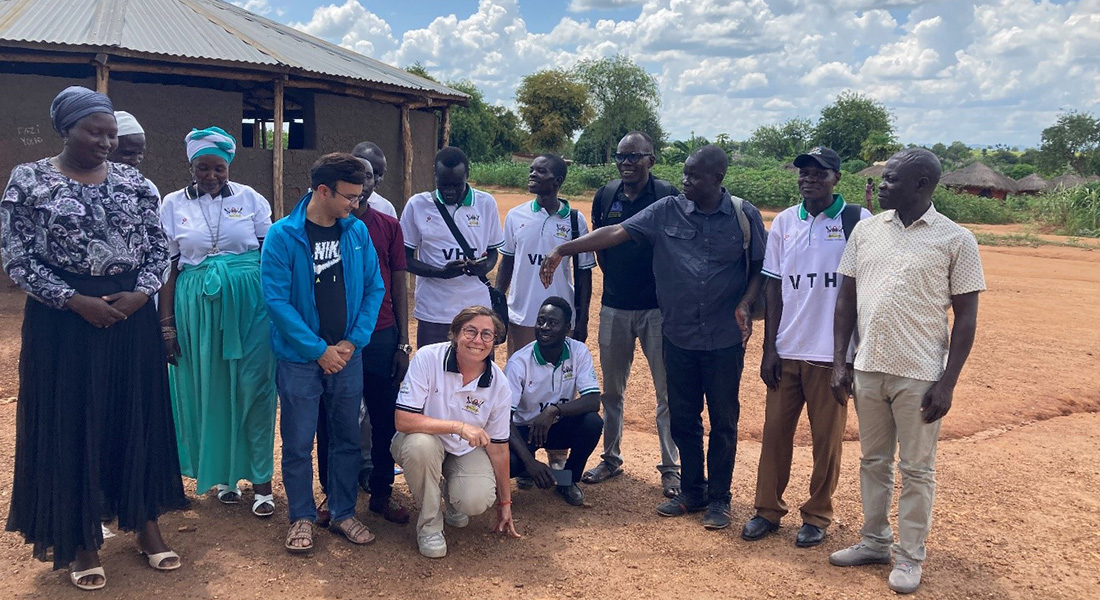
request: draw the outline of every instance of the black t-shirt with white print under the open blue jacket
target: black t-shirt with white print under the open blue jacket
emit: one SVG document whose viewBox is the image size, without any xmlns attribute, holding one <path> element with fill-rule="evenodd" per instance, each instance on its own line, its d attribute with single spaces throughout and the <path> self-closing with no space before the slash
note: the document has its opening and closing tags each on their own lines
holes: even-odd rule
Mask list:
<svg viewBox="0 0 1100 600">
<path fill-rule="evenodd" d="M 314 299 L 321 319 L 321 339 L 329 346 L 344 339 L 348 327 L 348 298 L 343 288 L 343 263 L 340 258 L 340 223 L 321 227 L 306 220 L 306 236 L 314 251 Z"/>
</svg>

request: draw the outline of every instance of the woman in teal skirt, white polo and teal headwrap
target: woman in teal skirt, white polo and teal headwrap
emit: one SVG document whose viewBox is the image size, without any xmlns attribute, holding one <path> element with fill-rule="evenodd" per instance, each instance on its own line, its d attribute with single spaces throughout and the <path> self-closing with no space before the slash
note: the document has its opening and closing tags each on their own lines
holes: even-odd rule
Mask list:
<svg viewBox="0 0 1100 600">
<path fill-rule="evenodd" d="M 260 247 L 271 205 L 229 181 L 237 143 L 211 127 L 187 138 L 191 185 L 164 197 L 161 223 L 172 272 L 161 292 L 180 472 L 204 493 L 241 501 L 252 482 L 256 516 L 275 512 L 275 358 L 260 288 Z"/>
</svg>

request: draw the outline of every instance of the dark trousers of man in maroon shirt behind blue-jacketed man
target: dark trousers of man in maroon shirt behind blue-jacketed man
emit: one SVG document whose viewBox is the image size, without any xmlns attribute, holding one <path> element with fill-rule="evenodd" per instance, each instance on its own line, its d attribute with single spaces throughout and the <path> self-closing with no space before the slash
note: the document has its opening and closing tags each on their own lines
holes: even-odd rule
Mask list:
<svg viewBox="0 0 1100 600">
<path fill-rule="evenodd" d="M 371 476 L 367 487 L 371 500 L 389 498 L 394 486 L 394 457 L 389 454 L 389 443 L 394 439 L 394 410 L 397 404 L 399 381 L 393 377 L 394 353 L 397 352 L 397 326 L 375 331 L 371 343 L 363 348 L 363 405 L 371 419 Z M 320 407 L 317 426 L 317 447 L 328 446 L 328 429 L 324 426 L 324 405 Z M 360 466 L 362 470 L 362 466 Z M 317 455 L 317 474 L 321 488 L 328 493 L 329 461 L 324 452 Z M 356 471 L 358 472 L 358 471 Z"/>
</svg>

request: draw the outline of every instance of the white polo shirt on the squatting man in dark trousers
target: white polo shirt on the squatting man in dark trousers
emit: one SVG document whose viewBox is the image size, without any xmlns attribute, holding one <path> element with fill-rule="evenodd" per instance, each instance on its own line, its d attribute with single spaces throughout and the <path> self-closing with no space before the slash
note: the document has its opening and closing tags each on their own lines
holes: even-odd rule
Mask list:
<svg viewBox="0 0 1100 600">
<path fill-rule="evenodd" d="M 504 374 L 512 385 L 512 419 L 516 425 L 530 424 L 551 404 L 600 393 L 592 353 L 573 338 L 565 338 L 565 348 L 557 364 L 542 358 L 538 341 L 524 346 L 508 359 Z"/>
</svg>

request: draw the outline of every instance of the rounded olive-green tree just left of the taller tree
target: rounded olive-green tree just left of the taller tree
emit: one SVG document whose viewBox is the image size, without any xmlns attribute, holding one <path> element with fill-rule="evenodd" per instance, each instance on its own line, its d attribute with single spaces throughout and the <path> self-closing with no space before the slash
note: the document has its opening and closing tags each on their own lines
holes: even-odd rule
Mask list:
<svg viewBox="0 0 1100 600">
<path fill-rule="evenodd" d="M 530 131 L 531 150 L 561 152 L 593 117 L 588 89 L 560 69 L 524 77 L 516 90 L 519 117 Z"/>
</svg>

